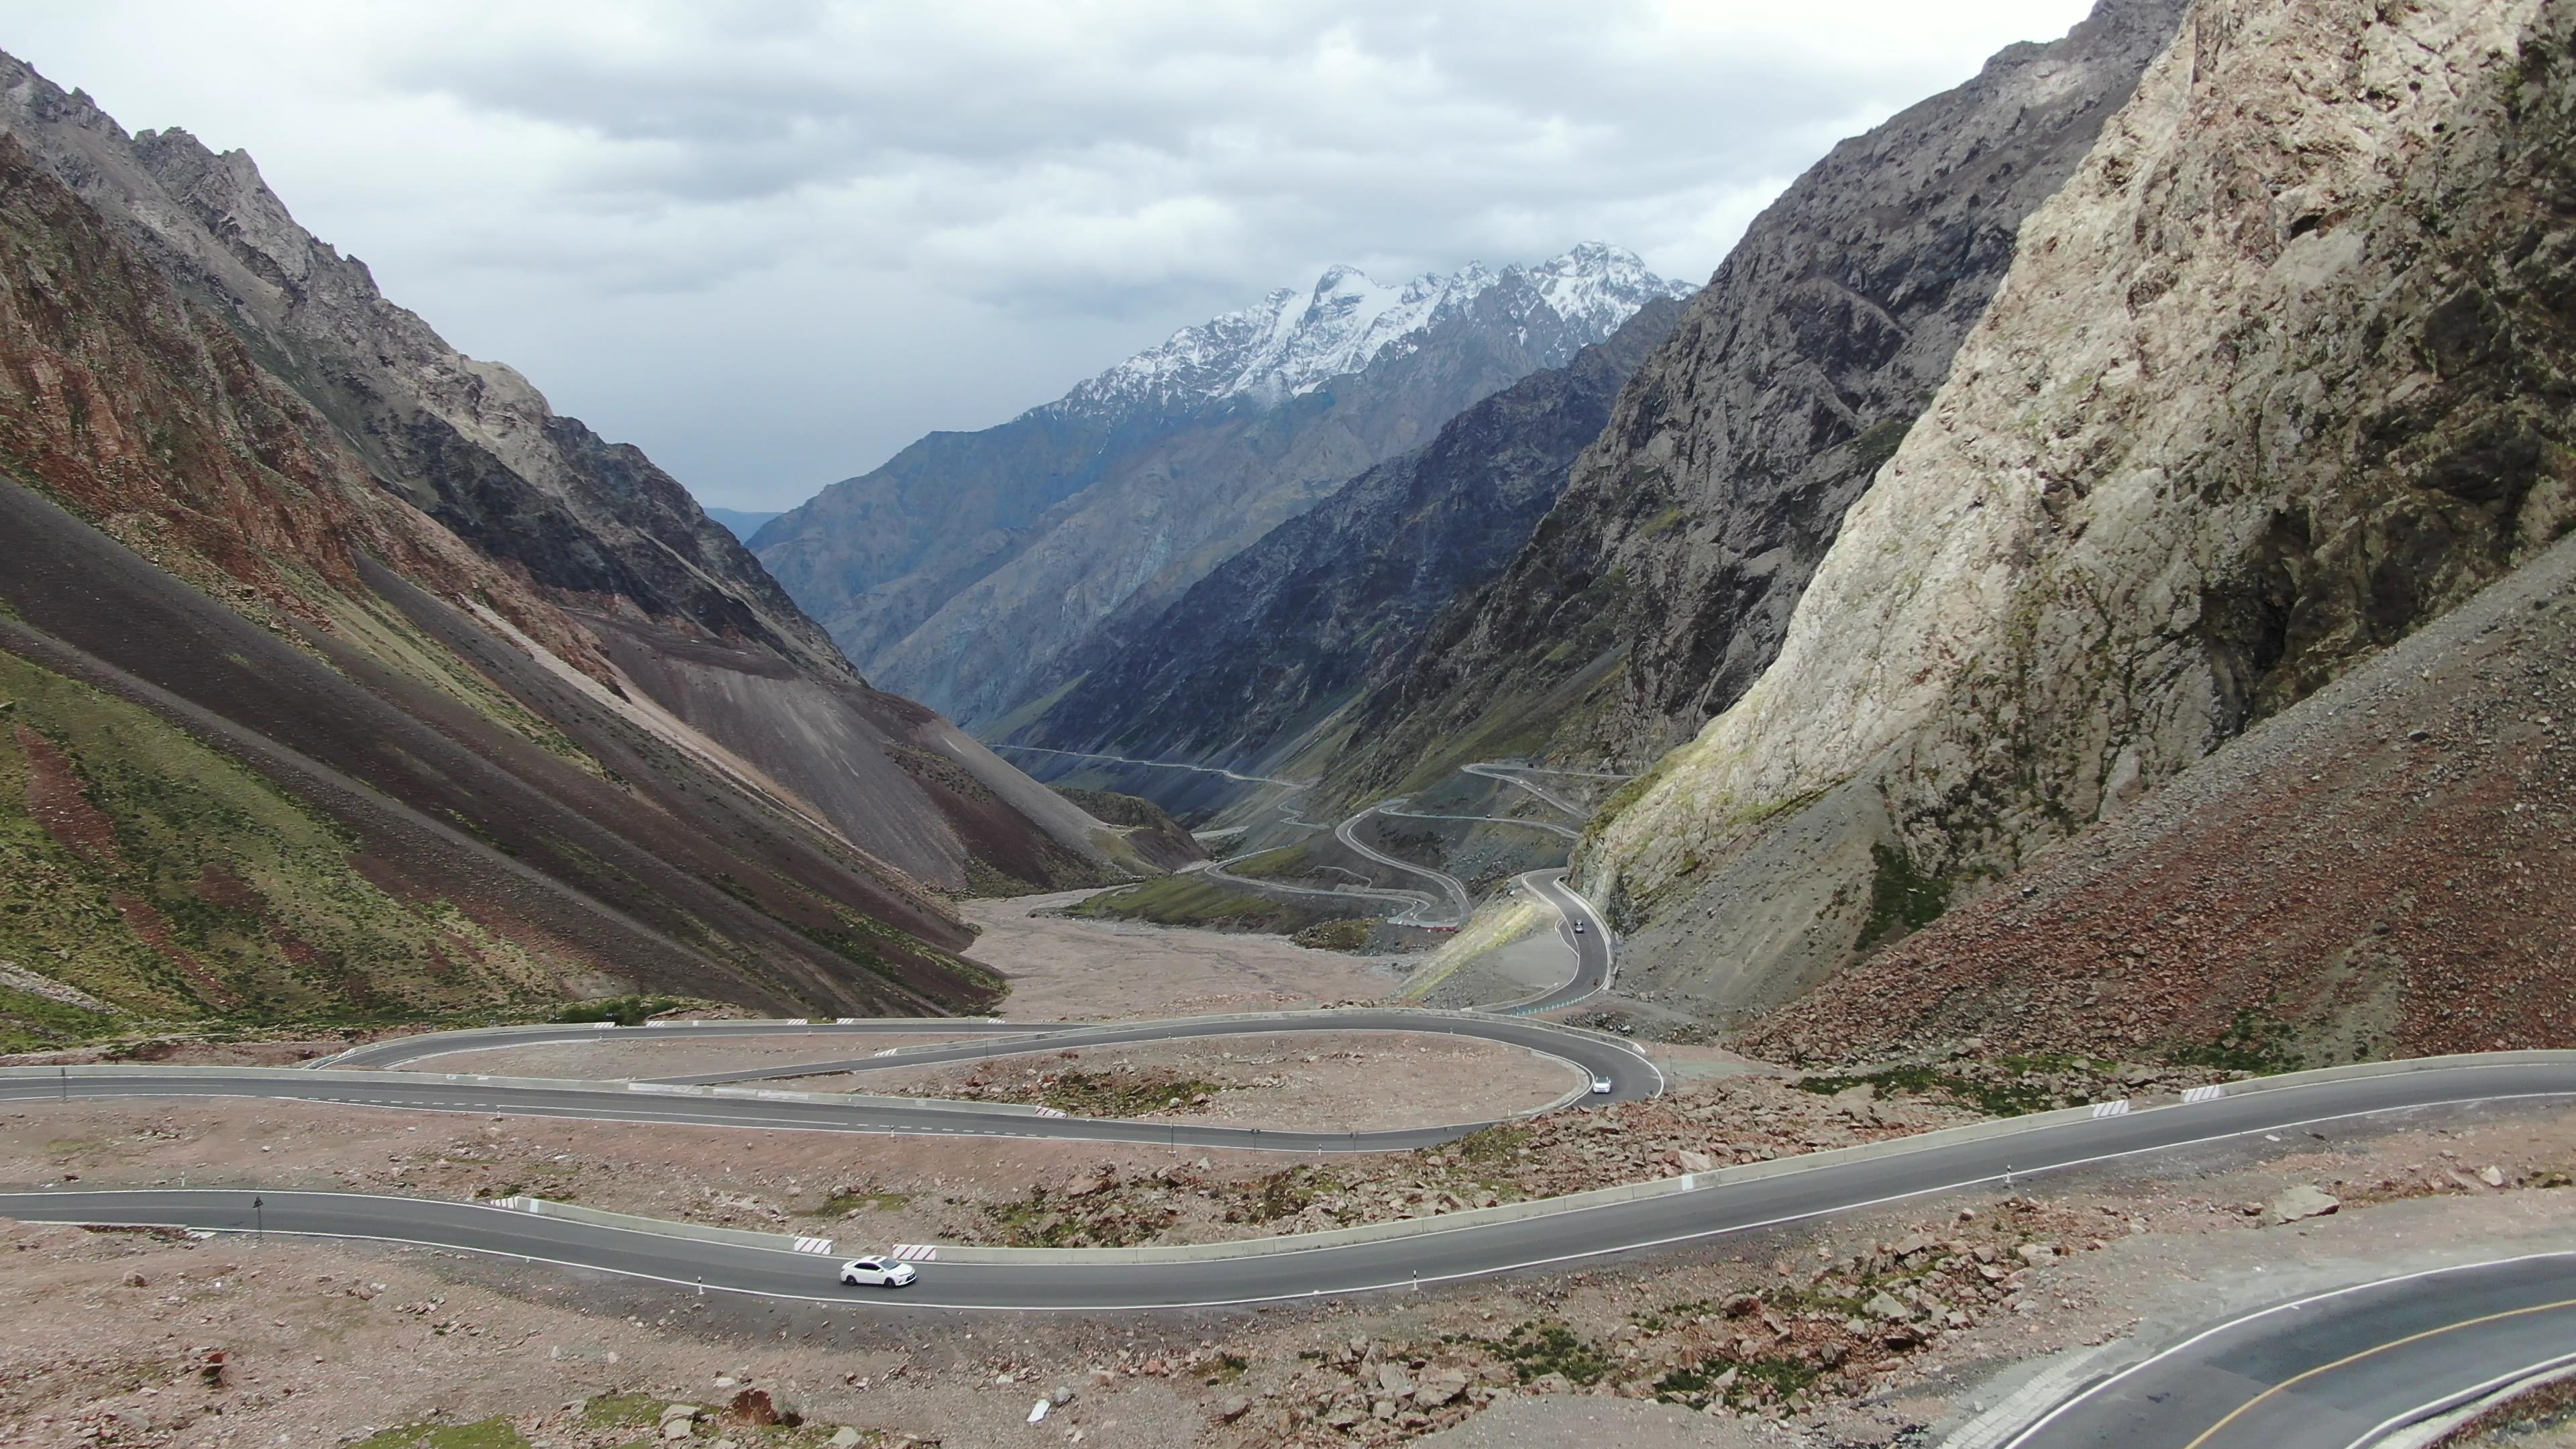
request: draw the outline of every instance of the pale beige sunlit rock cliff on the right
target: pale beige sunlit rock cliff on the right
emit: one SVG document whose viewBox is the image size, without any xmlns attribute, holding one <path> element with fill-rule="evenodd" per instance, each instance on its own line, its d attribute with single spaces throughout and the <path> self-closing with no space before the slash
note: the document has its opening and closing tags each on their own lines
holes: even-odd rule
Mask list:
<svg viewBox="0 0 2576 1449">
<path fill-rule="evenodd" d="M 2537 0 L 2195 8 L 1777 663 L 1584 851 L 1649 977 L 1783 1000 L 1873 900 L 1973 892 L 2568 529 L 2568 41 Z"/>
</svg>

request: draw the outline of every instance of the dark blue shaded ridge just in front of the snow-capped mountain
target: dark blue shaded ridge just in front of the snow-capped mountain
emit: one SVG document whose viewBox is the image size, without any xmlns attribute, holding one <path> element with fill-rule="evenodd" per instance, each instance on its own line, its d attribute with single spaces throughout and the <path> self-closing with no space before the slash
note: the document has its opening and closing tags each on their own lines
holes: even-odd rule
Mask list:
<svg viewBox="0 0 2576 1449">
<path fill-rule="evenodd" d="M 1123 608 L 1041 678 L 1018 745 L 1249 763 L 1401 676 L 1432 614 L 1507 565 L 1682 304 L 1450 418 L 1221 562 L 1177 601 Z M 1043 771 L 1041 771 L 1043 773 Z"/>
</svg>

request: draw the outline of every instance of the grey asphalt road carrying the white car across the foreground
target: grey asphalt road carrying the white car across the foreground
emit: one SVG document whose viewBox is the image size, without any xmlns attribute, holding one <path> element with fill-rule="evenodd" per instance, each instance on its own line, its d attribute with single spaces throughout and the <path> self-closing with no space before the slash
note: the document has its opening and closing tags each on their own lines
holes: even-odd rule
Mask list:
<svg viewBox="0 0 2576 1449">
<path fill-rule="evenodd" d="M 270 1073 L 270 1078 L 296 1075 L 312 1080 L 309 1073 Z M 80 1078 L 64 1078 L 64 1091 L 72 1091 L 77 1083 Z M 46 1083 L 10 1078 L 10 1085 L 18 1093 L 26 1088 L 39 1088 L 41 1093 Z M 523 1106 L 518 1096 L 482 1091 L 474 1083 L 451 1083 L 446 1091 L 459 1093 L 459 1109 L 513 1111 Z M 2002 1137 L 1814 1163 L 1770 1178 L 1723 1181 L 1698 1191 L 1525 1220 L 1461 1225 L 1370 1243 L 1298 1248 L 1298 1240 L 1275 1240 L 1267 1250 L 1244 1258 L 1144 1263 L 925 1263 L 920 1281 L 912 1289 L 902 1289 L 902 1302 L 920 1307 L 1105 1312 L 1404 1289 L 1412 1284 L 1638 1256 L 1685 1243 L 1705 1243 L 1728 1232 L 2244 1134 L 2313 1129 L 2331 1137 L 2334 1132 L 2362 1127 L 2362 1119 L 2375 1114 L 2566 1096 L 2576 1096 L 2576 1067 L 2566 1065 L 2429 1067 L 2061 1122 Z M 729 1106 L 747 1119 L 744 1124 L 793 1124 L 770 1119 L 770 1109 L 791 1109 L 793 1104 L 732 1101 Z M 252 1196 L 263 1199 L 260 1207 L 252 1207 Z M 0 1194 L 0 1214 L 36 1222 L 381 1238 L 523 1256 L 675 1284 L 703 1281 L 708 1289 L 726 1292 L 811 1299 L 868 1297 L 871 1302 L 884 1297 L 881 1289 L 868 1289 L 866 1294 L 837 1289 L 827 1261 L 788 1250 L 662 1238 L 657 1232 L 595 1227 L 451 1201 L 283 1191 L 33 1191 Z M 842 1250 L 850 1250 L 850 1245 L 842 1245 Z M 2061 1423 L 2066 1421 L 2061 1418 Z"/>
</svg>

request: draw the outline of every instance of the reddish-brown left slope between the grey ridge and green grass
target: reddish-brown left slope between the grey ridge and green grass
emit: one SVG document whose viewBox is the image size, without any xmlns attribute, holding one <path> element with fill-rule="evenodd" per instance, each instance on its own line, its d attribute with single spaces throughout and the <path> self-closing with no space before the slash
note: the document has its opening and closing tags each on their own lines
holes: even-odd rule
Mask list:
<svg viewBox="0 0 2576 1449">
<path fill-rule="evenodd" d="M 126 959 L 103 980 L 160 975 L 167 990 L 137 985 L 124 1006 L 399 1011 L 544 998 L 533 980 L 773 1011 L 992 998 L 992 977 L 951 954 L 971 931 L 904 871 L 600 704 L 611 688 L 572 688 L 616 681 L 580 619 L 379 490 L 330 423 L 5 137 L 0 469 L 52 498 L 0 482 L 0 650 L 46 670 L 23 678 L 88 681 L 160 714 L 327 817 L 345 851 L 330 869 L 394 910 L 477 926 L 435 946 L 461 985 L 307 962 L 291 923 L 268 920 L 258 941 L 227 936 L 229 964 L 193 987 Z M 574 668 L 541 668 L 495 621 Z M 111 745 L 49 740 L 98 799 L 124 768 Z M 191 789 L 183 773 L 147 784 Z M 201 890 L 82 874 L 98 861 L 36 838 L 10 864 L 28 879 L 64 869 L 62 890 L 113 902 L 134 933 L 126 957 L 193 977 L 201 951 L 165 926 L 222 936 L 188 926 L 219 905 Z M 59 954 L 26 931 L 0 915 L 0 954 Z"/>
</svg>

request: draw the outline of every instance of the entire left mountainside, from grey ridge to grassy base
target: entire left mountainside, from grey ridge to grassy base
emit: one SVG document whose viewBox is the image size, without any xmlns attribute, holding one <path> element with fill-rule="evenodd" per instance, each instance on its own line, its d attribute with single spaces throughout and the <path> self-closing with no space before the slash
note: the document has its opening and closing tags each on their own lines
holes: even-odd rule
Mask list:
<svg viewBox="0 0 2576 1449">
<path fill-rule="evenodd" d="M 1121 856 L 247 157 L 8 64 L 0 957 L 111 1024 L 945 1011 L 997 980 L 943 892 Z"/>
</svg>

